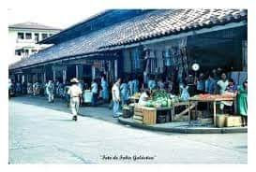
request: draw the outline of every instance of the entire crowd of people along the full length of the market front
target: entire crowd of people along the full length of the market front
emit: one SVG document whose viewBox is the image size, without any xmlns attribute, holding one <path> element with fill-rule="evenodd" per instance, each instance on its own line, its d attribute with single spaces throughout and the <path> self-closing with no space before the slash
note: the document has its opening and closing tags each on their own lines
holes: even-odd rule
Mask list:
<svg viewBox="0 0 256 172">
<path fill-rule="evenodd" d="M 111 103 L 113 108 L 113 117 L 118 116 L 120 107 L 128 104 L 129 97 L 134 93 L 143 93 L 140 98 L 145 101 L 153 90 L 165 90 L 167 93 L 178 94 L 184 101 L 194 94 L 210 93 L 223 94 L 234 93 L 237 95 L 238 113 L 243 115 L 247 121 L 247 92 L 248 82 L 245 80 L 241 86 L 234 83 L 233 79 L 227 79 L 226 74 L 221 69 L 200 73 L 198 77 L 188 75 L 186 78 L 177 82 L 176 77 L 166 77 L 163 75 L 149 75 L 145 81 L 139 76 L 130 75 L 122 79 L 117 79 L 114 83 L 108 82 L 105 75 L 100 79 L 93 79 L 91 84 L 83 80 L 75 80 L 76 85 L 81 90 L 79 95 L 79 104 L 83 104 L 83 91 L 91 90 L 91 106 L 97 107 L 99 100 L 101 103 Z M 74 82 L 74 80 L 73 80 Z M 70 106 L 70 93 L 72 87 L 71 80 L 67 83 L 61 83 L 58 80 L 49 80 L 47 83 L 11 83 L 12 89 L 19 94 L 32 94 L 34 96 L 48 96 L 49 103 L 53 103 L 54 97 L 60 97 L 66 100 Z M 220 104 L 220 110 L 225 106 L 231 106 L 226 102 Z"/>
</svg>

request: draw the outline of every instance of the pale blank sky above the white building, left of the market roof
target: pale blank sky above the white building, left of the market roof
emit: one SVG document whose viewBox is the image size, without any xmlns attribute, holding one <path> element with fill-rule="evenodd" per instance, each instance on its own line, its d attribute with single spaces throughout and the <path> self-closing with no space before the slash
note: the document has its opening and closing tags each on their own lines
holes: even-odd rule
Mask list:
<svg viewBox="0 0 256 172">
<path fill-rule="evenodd" d="M 65 29 L 76 22 L 81 22 L 86 18 L 97 14 L 104 10 L 104 7 L 77 7 L 76 10 L 72 10 L 71 14 L 67 12 L 68 10 L 67 7 L 59 8 L 57 10 L 54 7 L 49 7 L 46 13 L 44 7 L 8 7 L 8 25 L 20 22 L 38 22 Z"/>
</svg>

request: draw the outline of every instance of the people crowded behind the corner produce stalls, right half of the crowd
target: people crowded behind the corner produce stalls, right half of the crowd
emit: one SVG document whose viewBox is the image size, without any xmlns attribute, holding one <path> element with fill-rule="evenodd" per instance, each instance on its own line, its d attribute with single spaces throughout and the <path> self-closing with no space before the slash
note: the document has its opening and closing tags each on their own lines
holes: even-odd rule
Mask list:
<svg viewBox="0 0 256 172">
<path fill-rule="evenodd" d="M 177 87 L 178 84 L 178 87 Z M 113 93 L 113 117 L 118 116 L 119 104 L 122 106 L 128 103 L 128 97 L 134 93 L 142 93 L 139 104 L 143 104 L 153 90 L 165 90 L 168 93 L 178 94 L 182 100 L 195 94 L 226 94 L 232 93 L 236 96 L 237 113 L 242 115 L 243 123 L 247 125 L 248 109 L 248 80 L 244 80 L 242 85 L 237 85 L 233 79 L 228 79 L 221 69 L 214 69 L 205 73 L 200 73 L 198 77 L 188 75 L 179 83 L 175 83 L 172 78 L 161 78 L 151 75 L 147 83 L 139 79 L 118 79 L 112 89 Z M 233 107 L 233 102 L 222 101 L 219 104 L 219 112 L 224 113 L 225 107 Z"/>
</svg>

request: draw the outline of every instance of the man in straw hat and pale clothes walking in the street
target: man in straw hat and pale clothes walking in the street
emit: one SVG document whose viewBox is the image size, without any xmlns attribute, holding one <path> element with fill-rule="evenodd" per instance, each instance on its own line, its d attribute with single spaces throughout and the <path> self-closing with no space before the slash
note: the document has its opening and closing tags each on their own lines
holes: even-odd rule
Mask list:
<svg viewBox="0 0 256 172">
<path fill-rule="evenodd" d="M 70 108 L 73 114 L 73 120 L 77 121 L 77 114 L 79 111 L 80 97 L 82 96 L 82 90 L 78 86 L 78 79 L 71 79 L 71 87 L 68 89 L 70 95 Z"/>
</svg>

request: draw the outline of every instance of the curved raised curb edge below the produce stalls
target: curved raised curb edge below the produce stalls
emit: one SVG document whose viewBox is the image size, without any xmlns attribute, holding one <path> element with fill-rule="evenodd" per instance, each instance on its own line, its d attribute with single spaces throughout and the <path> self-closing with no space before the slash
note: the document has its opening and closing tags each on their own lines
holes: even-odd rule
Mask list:
<svg viewBox="0 0 256 172">
<path fill-rule="evenodd" d="M 229 128 L 192 128 L 192 127 L 158 127 L 154 125 L 144 125 L 136 122 L 129 122 L 125 118 L 119 117 L 118 122 L 128 124 L 130 126 L 151 131 L 182 133 L 182 134 L 232 134 L 232 133 L 248 133 L 248 127 L 229 127 Z"/>
</svg>

